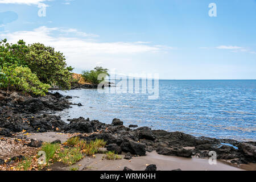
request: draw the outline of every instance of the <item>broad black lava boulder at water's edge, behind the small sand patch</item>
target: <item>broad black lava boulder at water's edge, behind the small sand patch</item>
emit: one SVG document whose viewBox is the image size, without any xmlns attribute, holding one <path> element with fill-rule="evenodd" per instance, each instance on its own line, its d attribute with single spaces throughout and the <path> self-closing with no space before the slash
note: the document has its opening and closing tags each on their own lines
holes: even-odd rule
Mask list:
<svg viewBox="0 0 256 182">
<path fill-rule="evenodd" d="M 89 121 L 80 117 L 72 119 L 65 129 L 65 133 L 92 133 L 93 127 Z"/>
</svg>

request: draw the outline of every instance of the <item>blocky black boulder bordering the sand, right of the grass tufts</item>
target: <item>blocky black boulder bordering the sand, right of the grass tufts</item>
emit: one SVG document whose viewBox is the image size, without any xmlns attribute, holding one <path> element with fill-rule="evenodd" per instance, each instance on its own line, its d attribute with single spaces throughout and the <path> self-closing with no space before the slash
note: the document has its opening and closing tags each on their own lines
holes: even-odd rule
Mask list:
<svg viewBox="0 0 256 182">
<path fill-rule="evenodd" d="M 140 142 L 134 142 L 129 139 L 124 139 L 121 144 L 122 151 L 131 152 L 134 155 L 146 155 L 146 145 Z"/>
</svg>

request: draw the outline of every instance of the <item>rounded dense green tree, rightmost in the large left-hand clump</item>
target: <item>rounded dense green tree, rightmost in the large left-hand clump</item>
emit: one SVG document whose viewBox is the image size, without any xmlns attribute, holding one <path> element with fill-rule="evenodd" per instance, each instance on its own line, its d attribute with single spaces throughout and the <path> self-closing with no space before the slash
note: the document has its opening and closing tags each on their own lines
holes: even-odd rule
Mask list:
<svg viewBox="0 0 256 182">
<path fill-rule="evenodd" d="M 40 81 L 59 86 L 61 89 L 71 88 L 73 68 L 66 68 L 63 53 L 56 52 L 53 47 L 46 47 L 40 43 L 32 44 L 28 49 L 26 64 Z"/>
</svg>

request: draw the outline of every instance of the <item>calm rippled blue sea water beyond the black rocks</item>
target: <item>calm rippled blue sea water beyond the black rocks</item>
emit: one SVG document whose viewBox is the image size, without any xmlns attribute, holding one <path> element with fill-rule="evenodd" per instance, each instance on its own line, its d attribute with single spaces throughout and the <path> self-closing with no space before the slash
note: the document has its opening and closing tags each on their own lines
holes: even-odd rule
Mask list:
<svg viewBox="0 0 256 182">
<path fill-rule="evenodd" d="M 60 93 L 83 105 L 61 111 L 63 120 L 82 116 L 111 123 L 119 118 L 126 126 L 256 140 L 256 80 L 160 80 L 157 100 L 148 100 L 147 94 L 107 94 L 96 89 Z"/>
</svg>

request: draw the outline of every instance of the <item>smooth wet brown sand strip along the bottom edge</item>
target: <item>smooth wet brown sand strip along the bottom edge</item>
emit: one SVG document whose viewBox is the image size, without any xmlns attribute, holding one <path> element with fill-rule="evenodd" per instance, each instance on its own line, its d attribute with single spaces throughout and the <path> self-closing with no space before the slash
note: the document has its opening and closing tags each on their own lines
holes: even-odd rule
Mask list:
<svg viewBox="0 0 256 182">
<path fill-rule="evenodd" d="M 131 160 L 102 160 L 103 154 L 97 154 L 96 158 L 86 157 L 77 164 L 67 167 L 78 167 L 79 170 L 97 171 L 122 171 L 126 166 L 134 171 L 144 171 L 148 164 L 156 164 L 157 170 L 171 171 L 180 168 L 183 171 L 241 171 L 243 169 L 217 161 L 216 165 L 210 165 L 207 159 L 181 158 L 177 156 L 159 155 L 155 151 L 146 152 L 146 156 L 133 157 Z"/>
</svg>

